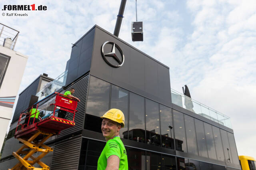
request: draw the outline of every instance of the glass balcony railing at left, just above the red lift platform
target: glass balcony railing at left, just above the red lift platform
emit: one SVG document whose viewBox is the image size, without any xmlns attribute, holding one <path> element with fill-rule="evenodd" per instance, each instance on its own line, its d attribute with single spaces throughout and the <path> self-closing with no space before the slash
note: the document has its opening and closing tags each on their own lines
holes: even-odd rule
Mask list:
<svg viewBox="0 0 256 170">
<path fill-rule="evenodd" d="M 68 74 L 68 70 L 61 73 L 53 81 L 44 85 L 42 90 L 40 90 L 40 91 L 38 91 L 38 93 L 36 93 L 36 96 L 38 96 L 38 101 L 44 99 L 44 97 L 47 97 L 48 95 L 50 95 L 53 92 L 58 91 L 60 88 L 62 88 L 66 84 L 67 74 Z"/>
</svg>

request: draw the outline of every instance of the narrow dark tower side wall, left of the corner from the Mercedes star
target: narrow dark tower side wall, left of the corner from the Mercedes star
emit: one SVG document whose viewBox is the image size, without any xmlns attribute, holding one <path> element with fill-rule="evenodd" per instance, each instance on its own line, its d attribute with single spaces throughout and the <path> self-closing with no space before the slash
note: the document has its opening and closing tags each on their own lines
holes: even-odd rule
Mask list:
<svg viewBox="0 0 256 170">
<path fill-rule="evenodd" d="M 90 70 L 94 33 L 95 29 L 93 28 L 73 45 L 70 59 L 68 60 L 66 85 L 69 85 Z"/>
</svg>

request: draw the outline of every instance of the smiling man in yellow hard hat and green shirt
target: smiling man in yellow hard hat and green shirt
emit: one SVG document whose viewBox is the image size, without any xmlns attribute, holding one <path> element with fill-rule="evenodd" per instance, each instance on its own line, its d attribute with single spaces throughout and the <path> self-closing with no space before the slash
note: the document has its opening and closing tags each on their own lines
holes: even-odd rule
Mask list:
<svg viewBox="0 0 256 170">
<path fill-rule="evenodd" d="M 119 132 L 124 127 L 124 113 L 110 109 L 101 118 L 106 145 L 98 159 L 98 170 L 128 170 L 127 153 Z"/>
</svg>

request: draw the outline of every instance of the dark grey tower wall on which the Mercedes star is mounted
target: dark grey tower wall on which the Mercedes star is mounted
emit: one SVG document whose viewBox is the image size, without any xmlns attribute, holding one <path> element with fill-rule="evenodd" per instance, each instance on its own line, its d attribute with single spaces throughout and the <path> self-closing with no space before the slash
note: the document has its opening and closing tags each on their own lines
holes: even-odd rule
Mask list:
<svg viewBox="0 0 256 170">
<path fill-rule="evenodd" d="M 104 61 L 101 48 L 106 41 L 115 42 L 122 49 L 124 64 L 121 67 L 111 67 Z M 111 51 L 112 45 L 107 45 L 104 50 Z M 112 57 L 108 57 L 108 59 L 112 59 Z M 90 74 L 164 105 L 171 106 L 169 68 L 98 26 L 95 28 Z"/>
</svg>

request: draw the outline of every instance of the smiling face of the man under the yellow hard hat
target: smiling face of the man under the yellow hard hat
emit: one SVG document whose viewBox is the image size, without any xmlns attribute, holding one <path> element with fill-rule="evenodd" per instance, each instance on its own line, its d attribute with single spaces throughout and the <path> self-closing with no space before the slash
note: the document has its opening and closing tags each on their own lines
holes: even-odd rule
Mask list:
<svg viewBox="0 0 256 170">
<path fill-rule="evenodd" d="M 121 125 L 117 125 L 116 122 L 111 121 L 110 119 L 103 119 L 101 123 L 101 131 L 105 138 L 112 139 L 114 138 L 119 130 Z"/>
</svg>

